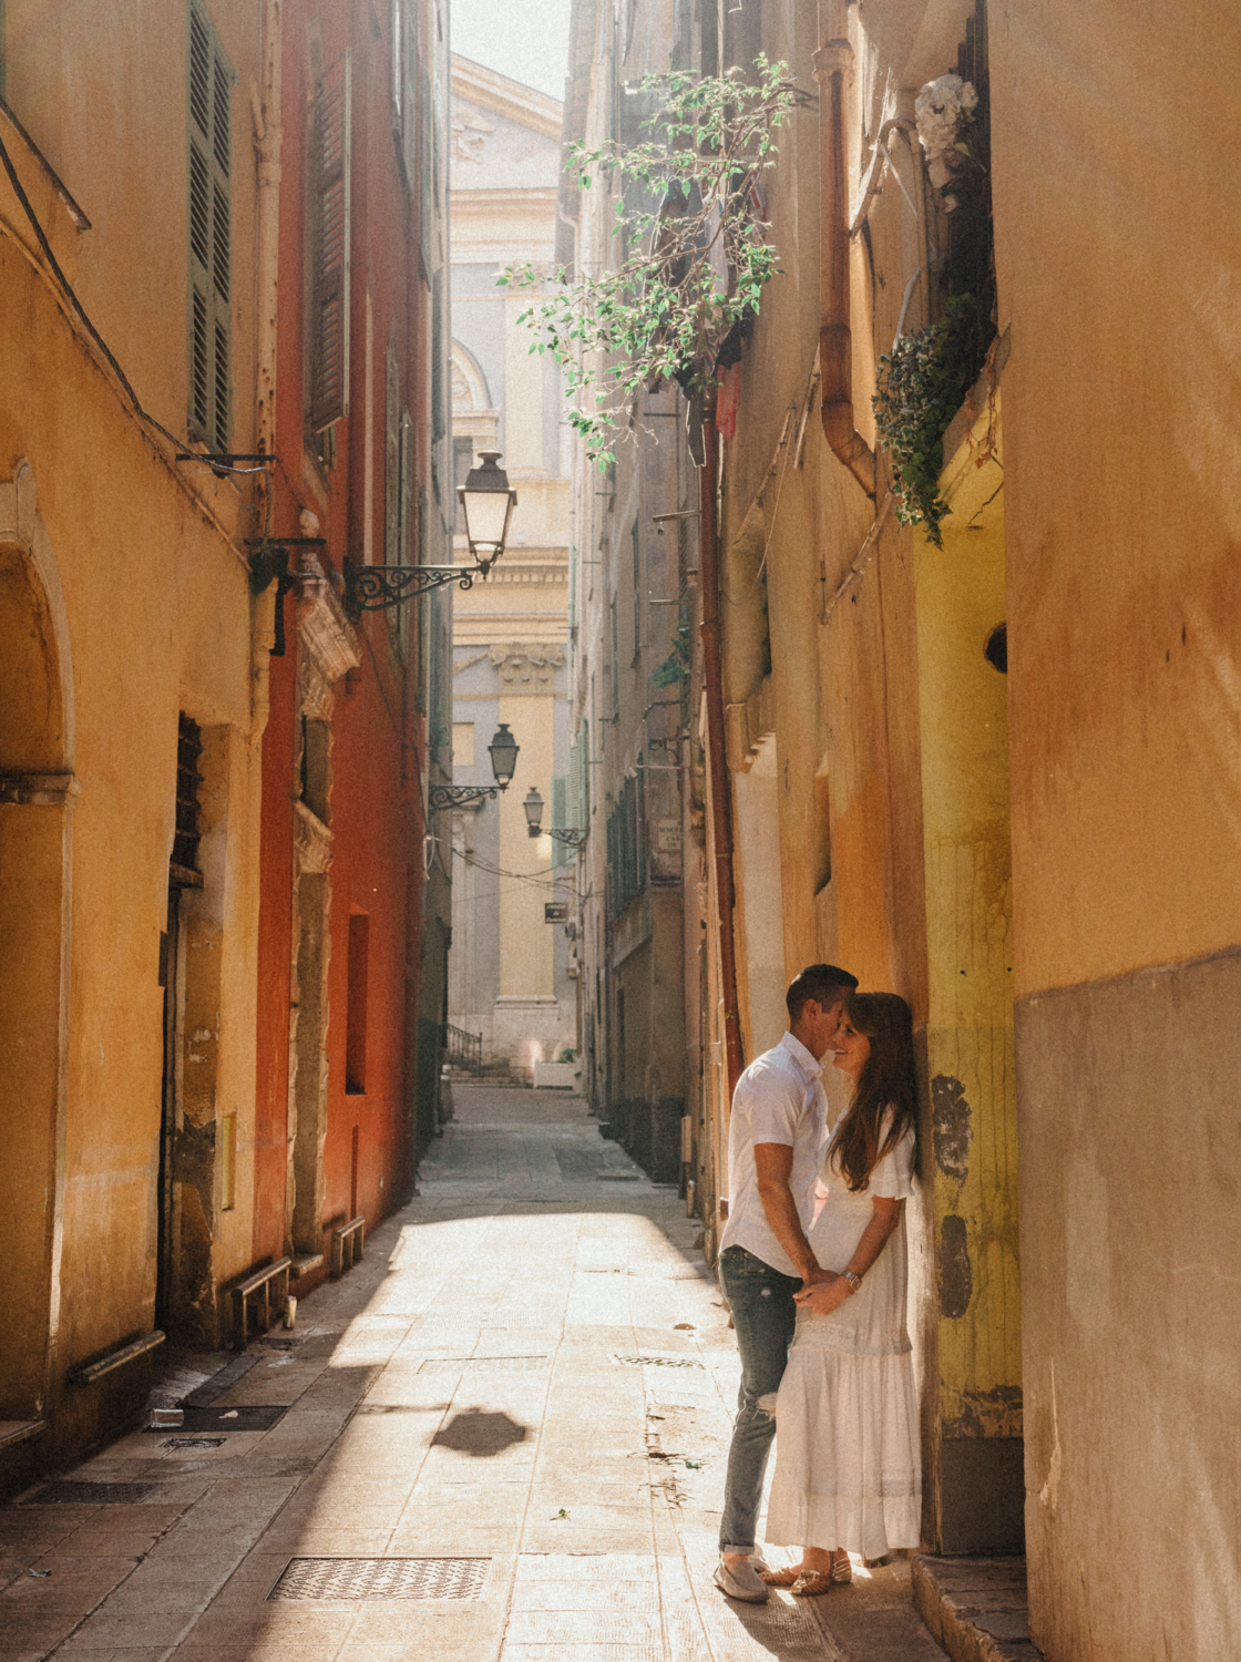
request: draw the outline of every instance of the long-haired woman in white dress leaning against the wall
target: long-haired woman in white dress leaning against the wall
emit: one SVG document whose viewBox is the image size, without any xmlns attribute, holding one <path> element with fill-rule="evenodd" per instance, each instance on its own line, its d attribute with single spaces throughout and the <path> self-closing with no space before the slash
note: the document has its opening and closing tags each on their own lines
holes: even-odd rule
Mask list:
<svg viewBox="0 0 1241 1662">
<path fill-rule="evenodd" d="M 763 1579 L 794 1594 L 851 1579 L 849 1552 L 920 1537 L 919 1414 L 905 1333 L 904 1202 L 917 1143 L 909 1006 L 854 992 L 836 1039 L 852 1100 L 827 1143 L 809 1242 L 836 1280 L 796 1293 L 797 1330 L 776 1396 L 768 1541 L 801 1564 Z M 766 1404 L 764 1404 L 766 1406 Z"/>
</svg>

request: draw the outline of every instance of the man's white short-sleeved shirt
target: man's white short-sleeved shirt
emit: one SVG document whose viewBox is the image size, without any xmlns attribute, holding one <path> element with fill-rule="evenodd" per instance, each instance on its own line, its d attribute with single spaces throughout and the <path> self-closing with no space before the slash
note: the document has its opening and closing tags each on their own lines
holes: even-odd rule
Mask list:
<svg viewBox="0 0 1241 1662">
<path fill-rule="evenodd" d="M 773 1142 L 792 1148 L 789 1192 L 802 1230 L 814 1215 L 814 1183 L 819 1150 L 827 1137 L 827 1094 L 822 1064 L 801 1039 L 784 1034 L 773 1050 L 754 1057 L 733 1092 L 733 1120 L 728 1128 L 728 1223 L 719 1242 L 744 1246 L 782 1275 L 797 1266 L 776 1240 L 758 1192 L 754 1143 Z"/>
</svg>

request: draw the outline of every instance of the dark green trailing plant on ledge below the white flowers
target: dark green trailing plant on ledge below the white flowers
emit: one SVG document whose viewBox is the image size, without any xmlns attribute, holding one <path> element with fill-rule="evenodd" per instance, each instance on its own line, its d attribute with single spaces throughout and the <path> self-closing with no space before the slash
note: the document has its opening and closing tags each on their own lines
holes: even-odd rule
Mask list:
<svg viewBox="0 0 1241 1662">
<path fill-rule="evenodd" d="M 937 548 L 944 547 L 939 527 L 949 512 L 939 494 L 944 434 L 979 376 L 992 332 L 974 296 L 957 294 L 942 317 L 917 334 L 902 334 L 879 359 L 879 391 L 871 402 L 892 467 L 897 520 L 924 525 Z"/>
</svg>

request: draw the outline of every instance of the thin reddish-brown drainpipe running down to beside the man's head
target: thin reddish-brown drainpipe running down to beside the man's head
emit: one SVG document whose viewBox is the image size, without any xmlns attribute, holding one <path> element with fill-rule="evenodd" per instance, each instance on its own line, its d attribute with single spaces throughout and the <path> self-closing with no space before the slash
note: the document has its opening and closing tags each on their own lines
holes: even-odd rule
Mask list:
<svg viewBox="0 0 1241 1662">
<path fill-rule="evenodd" d="M 738 1012 L 738 961 L 733 939 L 733 809 L 724 765 L 724 680 L 719 653 L 719 524 L 716 490 L 719 482 L 719 432 L 714 396 L 703 411 L 703 465 L 698 469 L 698 582 L 703 595 L 703 691 L 706 693 L 706 766 L 711 778 L 711 846 L 716 866 L 716 907 L 719 911 L 719 979 L 724 999 L 724 1055 L 728 1099 L 733 1100 L 741 1069 L 741 1017 Z"/>
</svg>

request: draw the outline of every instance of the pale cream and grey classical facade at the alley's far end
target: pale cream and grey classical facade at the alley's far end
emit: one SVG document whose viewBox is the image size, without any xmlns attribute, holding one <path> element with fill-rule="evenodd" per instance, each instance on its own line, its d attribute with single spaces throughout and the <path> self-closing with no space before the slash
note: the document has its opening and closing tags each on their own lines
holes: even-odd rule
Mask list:
<svg viewBox="0 0 1241 1662">
<path fill-rule="evenodd" d="M 454 597 L 452 730 L 457 784 L 490 784 L 487 746 L 507 723 L 520 746 L 510 789 L 454 814 L 449 1019 L 482 1040 L 483 1064 L 530 1079 L 575 1052 L 570 976 L 573 856 L 530 836 L 537 789 L 547 833 L 568 816 L 568 447 L 560 376 L 532 356 L 528 301 L 497 288 L 555 248 L 562 106 L 530 86 L 452 61 L 452 422 L 457 484 L 485 450 L 517 489 L 503 558 Z M 467 542 L 457 527 L 457 557 Z"/>
</svg>

